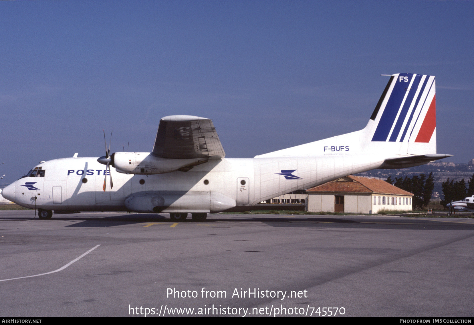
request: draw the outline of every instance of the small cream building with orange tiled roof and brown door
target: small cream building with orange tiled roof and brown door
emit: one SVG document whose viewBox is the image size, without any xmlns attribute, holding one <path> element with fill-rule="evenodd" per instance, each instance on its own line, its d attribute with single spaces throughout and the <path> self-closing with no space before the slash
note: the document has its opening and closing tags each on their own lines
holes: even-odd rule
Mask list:
<svg viewBox="0 0 474 325">
<path fill-rule="evenodd" d="M 386 181 L 345 176 L 306 190 L 310 212 L 378 213 L 411 210 L 413 194 Z"/>
</svg>

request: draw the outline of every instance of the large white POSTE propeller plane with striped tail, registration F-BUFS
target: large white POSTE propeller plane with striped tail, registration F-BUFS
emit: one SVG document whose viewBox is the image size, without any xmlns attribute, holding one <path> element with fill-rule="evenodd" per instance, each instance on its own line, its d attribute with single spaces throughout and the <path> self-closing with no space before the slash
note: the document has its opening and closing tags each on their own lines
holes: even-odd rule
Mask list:
<svg viewBox="0 0 474 325">
<path fill-rule="evenodd" d="M 397 73 L 362 130 L 265 153 L 225 158 L 212 120 L 163 117 L 151 153 L 41 162 L 2 191 L 4 198 L 52 211 L 191 213 L 251 209 L 263 200 L 375 168 L 405 168 L 442 159 L 436 153 L 435 77 Z M 105 135 L 104 135 L 105 137 Z M 107 181 L 109 179 L 109 181 Z"/>
</svg>

